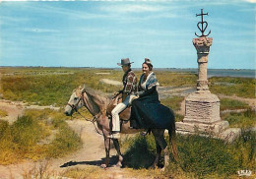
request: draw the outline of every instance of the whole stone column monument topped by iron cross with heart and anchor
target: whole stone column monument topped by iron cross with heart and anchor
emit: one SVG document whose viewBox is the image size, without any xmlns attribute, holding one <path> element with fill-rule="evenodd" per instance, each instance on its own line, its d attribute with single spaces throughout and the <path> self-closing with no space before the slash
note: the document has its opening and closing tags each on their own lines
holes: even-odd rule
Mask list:
<svg viewBox="0 0 256 179">
<path fill-rule="evenodd" d="M 233 141 L 240 129 L 227 129 L 229 124 L 220 117 L 220 99 L 216 94 L 211 93 L 207 80 L 207 63 L 210 47 L 213 43 L 212 37 L 207 37 L 204 31 L 208 27 L 207 22 L 203 21 L 203 13 L 197 16 L 202 17 L 197 27 L 201 30 L 202 35 L 193 39 L 193 44 L 197 50 L 198 62 L 198 81 L 197 90 L 190 93 L 185 98 L 185 117 L 182 122 L 176 122 L 176 130 L 181 134 L 204 134 L 218 137 L 229 142 Z M 202 25 L 202 28 L 199 25 Z M 204 28 L 204 24 L 206 27 Z"/>
</svg>

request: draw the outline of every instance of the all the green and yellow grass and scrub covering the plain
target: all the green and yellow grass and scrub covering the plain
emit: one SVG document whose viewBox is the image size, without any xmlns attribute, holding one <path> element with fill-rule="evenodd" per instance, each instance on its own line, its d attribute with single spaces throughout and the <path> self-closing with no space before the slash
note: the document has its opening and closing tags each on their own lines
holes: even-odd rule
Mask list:
<svg viewBox="0 0 256 179">
<path fill-rule="evenodd" d="M 99 83 L 100 79 L 121 81 L 123 72 L 115 69 L 94 68 L 0 68 L 2 98 L 25 101 L 29 104 L 53 105 L 63 107 L 73 89 L 86 85 L 92 89 L 112 94 L 121 89 L 118 86 Z M 155 72 L 161 87 L 196 86 L 197 75 L 189 73 Z M 136 71 L 140 77 L 141 72 Z M 241 96 L 255 99 L 255 79 L 211 78 L 210 90 L 216 94 Z M 175 111 L 180 110 L 183 96 L 171 96 L 161 103 Z M 247 128 L 255 127 L 256 114 L 247 103 L 234 99 L 221 98 L 221 110 L 246 109 L 244 112 L 225 113 L 222 115 L 231 127 L 242 128 L 242 136 L 233 144 L 199 136 L 177 136 L 180 160 L 171 160 L 163 173 L 145 170 L 153 161 L 155 142 L 152 136 L 127 138 L 122 142 L 125 167 L 132 171 L 131 177 L 149 178 L 236 178 L 237 171 L 255 166 L 255 132 Z M 1 111 L 0 111 L 1 112 Z M 1 112 L 5 116 L 5 111 Z M 49 118 L 51 119 L 49 122 Z M 176 114 L 176 121 L 183 116 Z M 40 159 L 58 157 L 67 154 L 65 150 L 74 151 L 80 148 L 79 138 L 65 123 L 61 112 L 27 111 L 13 125 L 0 122 L 0 163 L 9 164 L 23 158 Z M 21 130 L 23 129 L 23 130 Z M 37 130 L 35 130 L 37 129 Z M 50 144 L 40 144 L 52 131 L 57 131 L 56 138 Z M 34 135 L 32 135 L 34 134 Z M 167 139 L 166 139 L 167 140 Z M 40 144 L 40 146 L 38 146 Z M 60 150 L 59 150 L 60 149 Z M 4 151 L 4 152 L 3 152 Z M 52 152 L 54 151 L 54 152 Z M 15 153 L 18 153 L 16 160 Z M 162 162 L 162 161 L 161 161 Z M 64 175 L 68 177 L 88 177 L 97 169 L 74 169 Z M 135 172 L 136 171 L 136 172 Z M 94 173 L 93 172 L 93 173 Z M 128 172 L 129 174 L 129 172 Z"/>
</svg>

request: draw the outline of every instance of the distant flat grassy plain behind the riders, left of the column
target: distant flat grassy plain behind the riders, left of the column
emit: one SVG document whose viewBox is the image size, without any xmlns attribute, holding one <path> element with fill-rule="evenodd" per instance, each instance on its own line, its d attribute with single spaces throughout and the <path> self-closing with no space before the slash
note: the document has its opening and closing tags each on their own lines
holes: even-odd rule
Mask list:
<svg viewBox="0 0 256 179">
<path fill-rule="evenodd" d="M 23 100 L 38 105 L 66 104 L 71 91 L 83 84 L 102 92 L 113 93 L 118 86 L 99 83 L 100 79 L 121 81 L 123 72 L 91 68 L 4 68 L 1 90 L 3 98 Z M 136 71 L 140 77 L 142 73 Z M 161 86 L 193 87 L 197 77 L 193 74 L 156 72 Z M 180 81 L 179 79 L 183 80 Z"/>
</svg>

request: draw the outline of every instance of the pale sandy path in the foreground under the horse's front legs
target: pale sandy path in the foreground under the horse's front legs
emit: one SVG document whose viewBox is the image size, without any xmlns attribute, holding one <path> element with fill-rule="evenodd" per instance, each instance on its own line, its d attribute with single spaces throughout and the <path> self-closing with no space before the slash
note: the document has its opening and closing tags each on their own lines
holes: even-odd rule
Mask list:
<svg viewBox="0 0 256 179">
<path fill-rule="evenodd" d="M 33 171 L 38 171 L 40 167 L 47 167 L 46 172 L 55 177 L 61 176 L 65 170 L 74 167 L 83 168 L 88 165 L 99 167 L 102 162 L 102 158 L 105 156 L 102 136 L 96 133 L 95 127 L 91 122 L 74 120 L 67 121 L 67 123 L 77 134 L 81 136 L 83 141 L 83 147 L 81 149 L 63 158 L 38 162 L 26 160 L 19 164 L 11 164 L 6 166 L 0 165 L 0 178 L 9 179 L 13 177 L 15 179 L 22 179 Z M 115 149 L 111 149 L 110 155 L 115 154 Z M 111 161 L 113 162 L 113 159 Z M 107 178 L 111 178 L 112 175 L 116 175 L 116 173 L 120 170 L 121 169 L 119 168 L 109 168 L 107 171 L 102 169 L 102 172 L 107 174 Z M 121 173 L 119 176 L 120 178 L 123 178 Z"/>
</svg>

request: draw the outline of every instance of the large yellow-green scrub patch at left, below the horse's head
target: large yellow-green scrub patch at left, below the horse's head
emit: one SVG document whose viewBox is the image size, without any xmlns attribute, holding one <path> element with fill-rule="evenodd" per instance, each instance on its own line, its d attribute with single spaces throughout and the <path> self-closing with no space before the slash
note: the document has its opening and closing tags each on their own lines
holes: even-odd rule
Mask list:
<svg viewBox="0 0 256 179">
<path fill-rule="evenodd" d="M 17 163 L 63 156 L 81 147 L 81 141 L 62 118 L 64 114 L 50 109 L 27 110 L 14 124 L 0 121 L 0 164 Z M 40 143 L 52 131 L 53 141 Z"/>
</svg>

